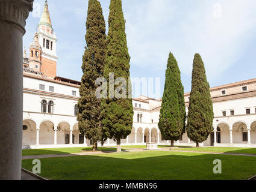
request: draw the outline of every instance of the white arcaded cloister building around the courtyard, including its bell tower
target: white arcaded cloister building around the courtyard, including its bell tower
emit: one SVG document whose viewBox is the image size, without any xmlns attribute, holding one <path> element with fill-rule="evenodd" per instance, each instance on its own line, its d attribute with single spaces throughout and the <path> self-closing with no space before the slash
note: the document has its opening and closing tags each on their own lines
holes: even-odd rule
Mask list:
<svg viewBox="0 0 256 192">
<path fill-rule="evenodd" d="M 47 2 L 38 31 L 30 58 L 26 52 L 23 56 L 23 148 L 90 146 L 92 142 L 80 134 L 76 121 L 81 83 L 56 77 L 57 36 Z M 184 97 L 187 109 L 189 93 Z M 256 147 L 256 79 L 211 88 L 211 97 L 213 132 L 200 145 Z M 133 107 L 133 130 L 122 145 L 170 145 L 158 129 L 161 100 L 140 96 L 133 99 Z M 107 140 L 104 145 L 115 144 Z M 195 143 L 185 133 L 175 145 Z"/>
</svg>

